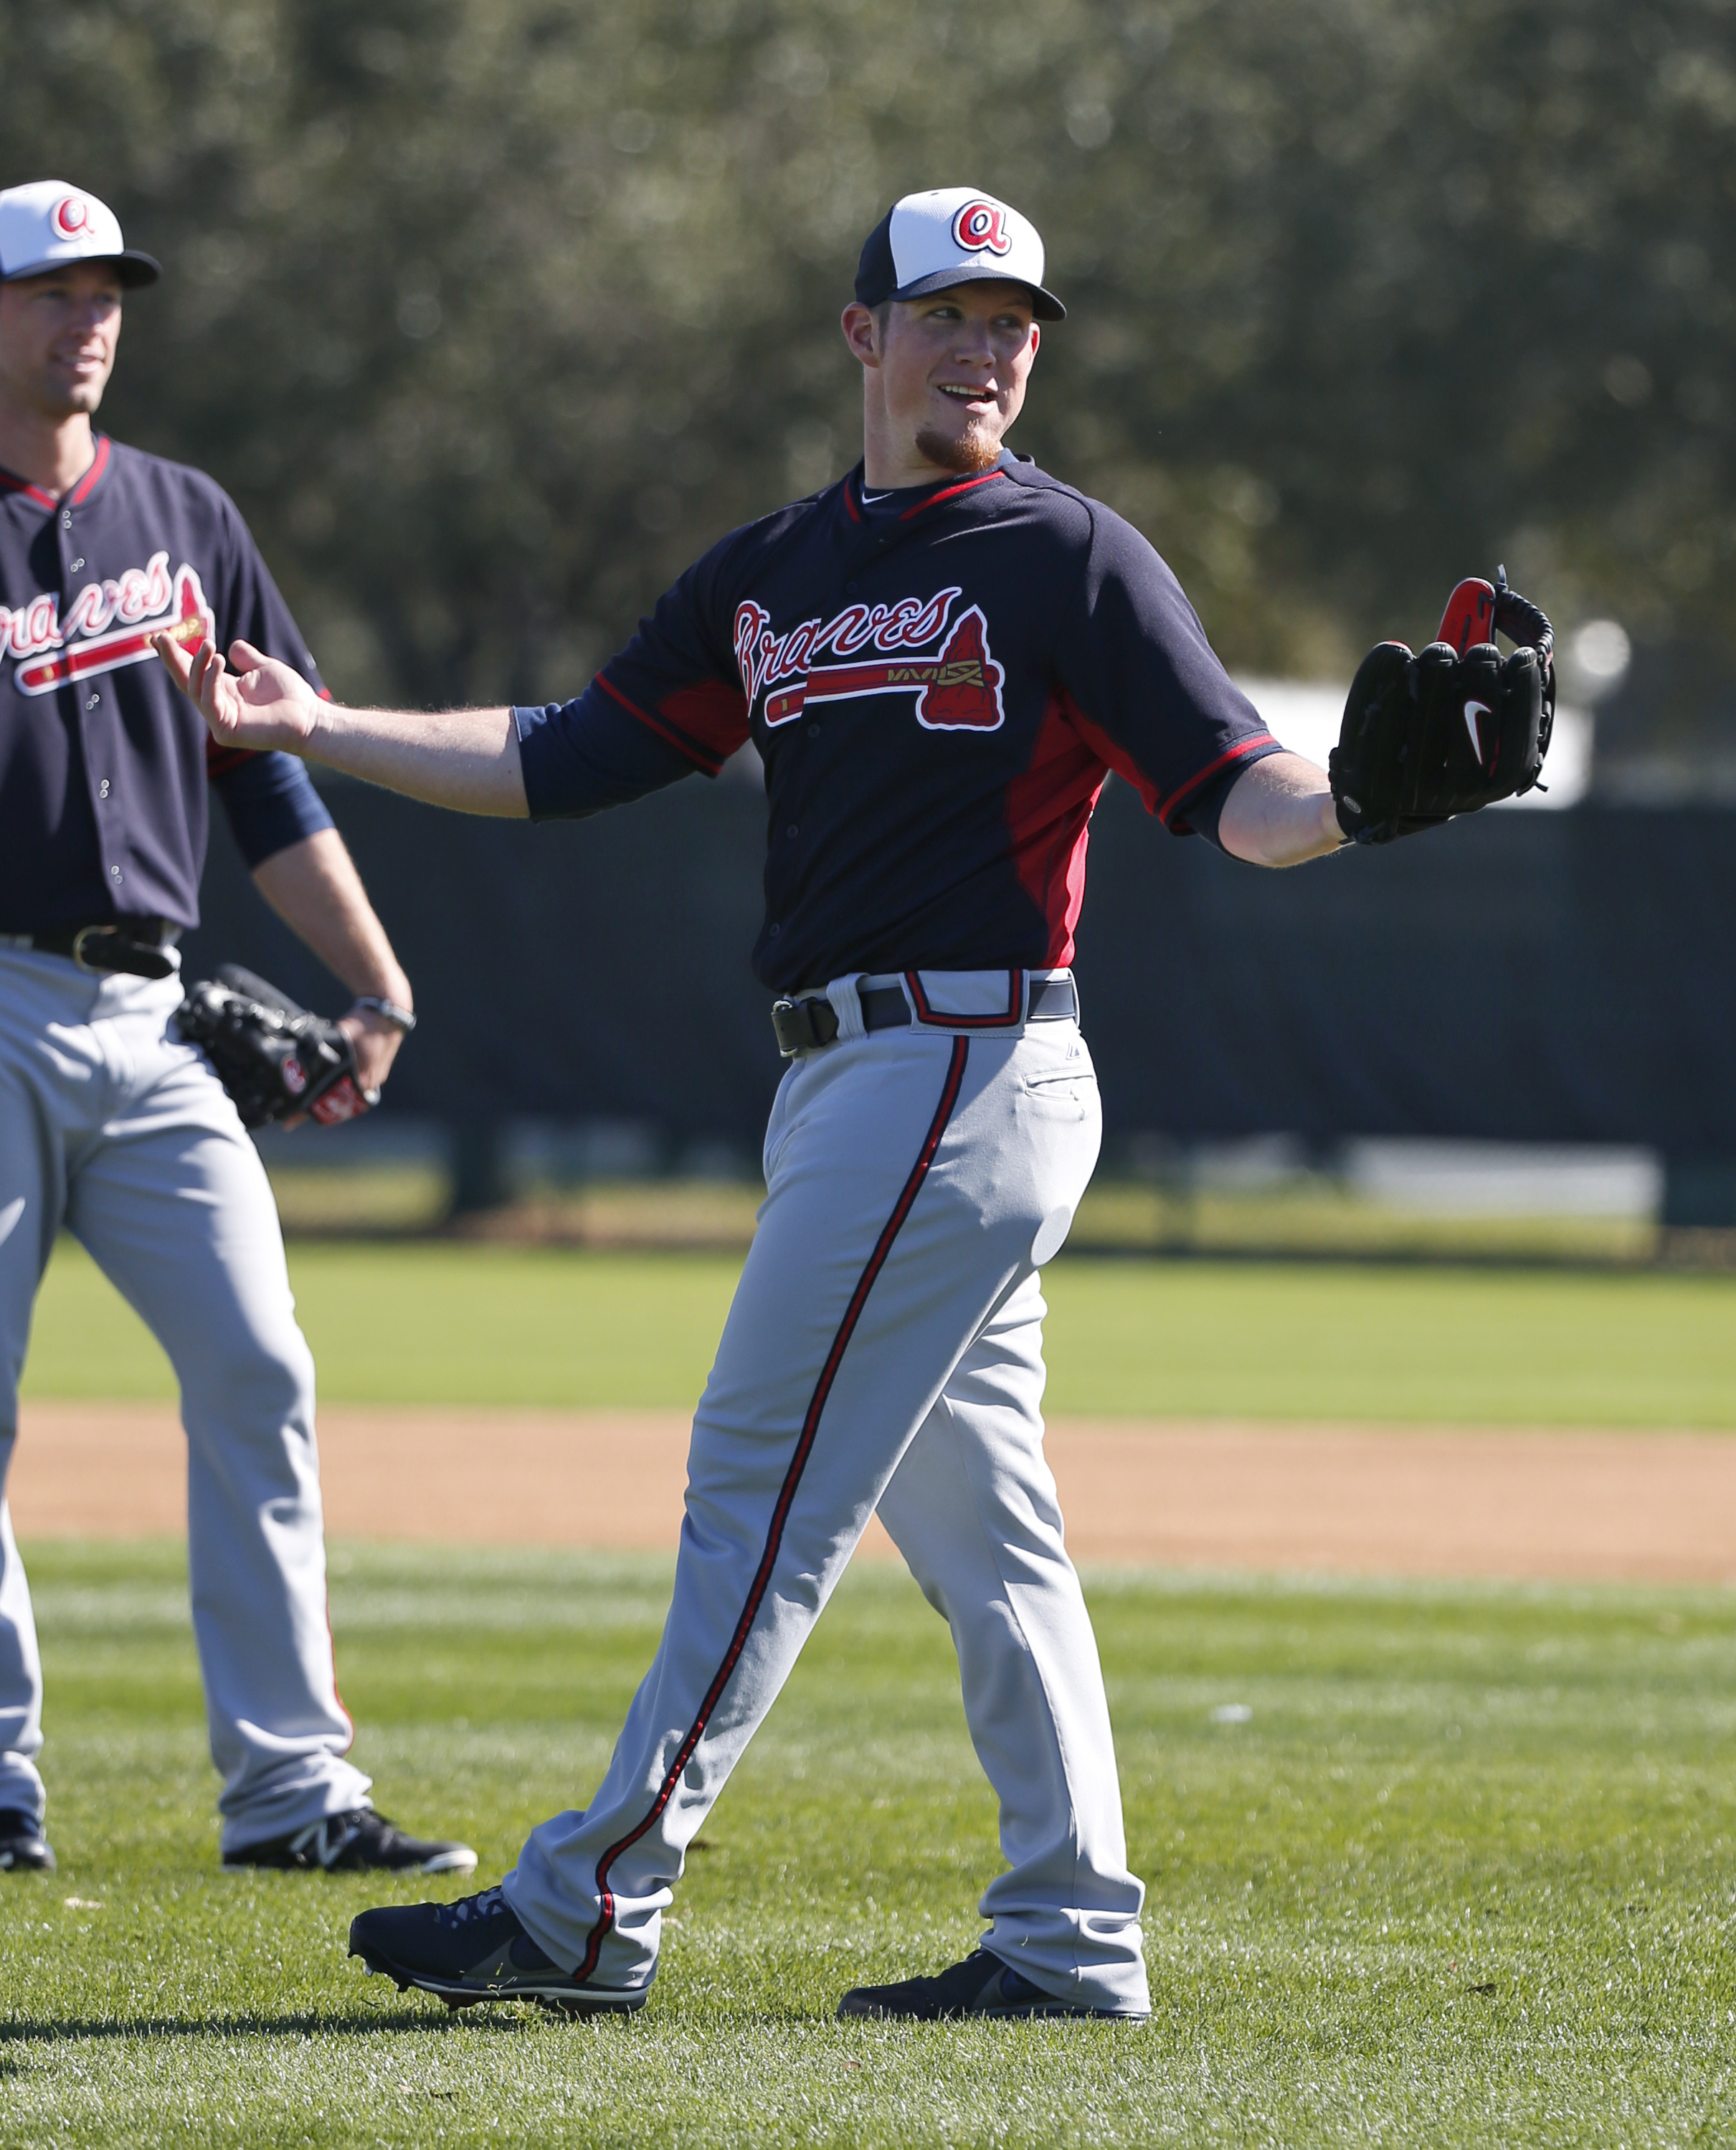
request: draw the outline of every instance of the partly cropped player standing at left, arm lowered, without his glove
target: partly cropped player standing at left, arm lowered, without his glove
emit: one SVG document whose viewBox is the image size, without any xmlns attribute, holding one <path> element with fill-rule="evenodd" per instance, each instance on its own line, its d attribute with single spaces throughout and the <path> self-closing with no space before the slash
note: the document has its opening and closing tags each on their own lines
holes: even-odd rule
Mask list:
<svg viewBox="0 0 1736 2150">
<path fill-rule="evenodd" d="M 372 1810 L 327 1625 L 314 1361 L 271 1185 L 183 1045 L 206 785 L 279 916 L 359 995 L 363 1088 L 410 985 L 307 772 L 213 748 L 150 636 L 245 634 L 320 692 L 232 501 L 92 430 L 122 295 L 159 275 L 95 196 L 0 194 L 0 1486 L 30 1309 L 73 1232 L 174 1363 L 187 1554 L 230 1866 L 468 1873 Z M 101 1350 L 101 1337 L 90 1339 Z M 52 1868 L 41 1660 L 0 1505 L 0 1866 Z"/>
</svg>

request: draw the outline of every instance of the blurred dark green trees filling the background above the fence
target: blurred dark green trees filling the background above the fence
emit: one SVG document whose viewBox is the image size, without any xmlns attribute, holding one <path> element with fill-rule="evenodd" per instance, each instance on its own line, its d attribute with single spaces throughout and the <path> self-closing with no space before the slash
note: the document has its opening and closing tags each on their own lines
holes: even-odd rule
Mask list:
<svg viewBox="0 0 1736 2150">
<path fill-rule="evenodd" d="M 1736 643 L 1730 0 L 0 0 L 0 183 L 168 277 L 112 428 L 236 494 L 335 688 L 574 692 L 857 454 L 887 202 L 1027 209 L 1016 445 L 1223 651 L 1347 666 L 1498 557 Z"/>
</svg>

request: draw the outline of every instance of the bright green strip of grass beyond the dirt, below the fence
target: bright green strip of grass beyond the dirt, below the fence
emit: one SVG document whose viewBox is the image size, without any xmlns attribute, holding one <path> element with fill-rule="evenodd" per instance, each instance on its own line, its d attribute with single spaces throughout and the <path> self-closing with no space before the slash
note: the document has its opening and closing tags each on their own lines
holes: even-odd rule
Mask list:
<svg viewBox="0 0 1736 2150">
<path fill-rule="evenodd" d="M 301 1243 L 290 1271 L 346 1402 L 690 1408 L 737 1256 Z M 1124 1415 L 1736 1425 L 1736 1275 L 1098 1262 L 1046 1271 L 1048 1408 Z M 95 1342 L 92 1342 L 95 1339 Z M 28 1395 L 172 1395 L 62 1243 Z"/>
</svg>

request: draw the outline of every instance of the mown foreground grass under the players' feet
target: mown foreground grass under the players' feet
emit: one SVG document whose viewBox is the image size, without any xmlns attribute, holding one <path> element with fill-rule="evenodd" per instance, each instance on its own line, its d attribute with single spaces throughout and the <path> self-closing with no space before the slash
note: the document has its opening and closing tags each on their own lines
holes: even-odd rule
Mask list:
<svg viewBox="0 0 1736 2150">
<path fill-rule="evenodd" d="M 844 1984 L 971 1944 L 997 1864 L 945 1630 L 847 1576 L 651 2006 L 572 2025 L 363 1978 L 378 1886 L 221 1877 L 180 1550 L 26 1550 L 62 1864 L 0 1877 L 0 2144 L 1736 2137 L 1730 1593 L 1102 1576 L 1154 2019 L 847 2027 Z M 380 1804 L 494 1879 L 595 1784 L 666 1565 L 333 1565 Z"/>
</svg>

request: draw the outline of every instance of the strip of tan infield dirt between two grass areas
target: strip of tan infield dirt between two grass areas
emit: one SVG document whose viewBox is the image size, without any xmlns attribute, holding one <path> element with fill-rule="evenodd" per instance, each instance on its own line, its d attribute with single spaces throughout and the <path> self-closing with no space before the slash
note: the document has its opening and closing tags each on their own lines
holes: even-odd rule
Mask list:
<svg viewBox="0 0 1736 2150">
<path fill-rule="evenodd" d="M 337 1535 L 672 1548 L 672 1413 L 329 1406 Z M 1343 1574 L 1736 1582 L 1736 1438 L 1061 1419 L 1048 1458 L 1085 1561 Z M 165 1404 L 26 1404 L 19 1537 L 185 1524 Z M 870 1557 L 892 1557 L 879 1524 Z"/>
</svg>

